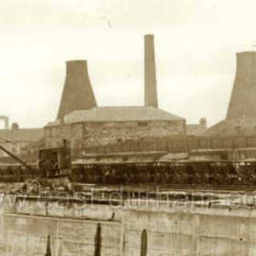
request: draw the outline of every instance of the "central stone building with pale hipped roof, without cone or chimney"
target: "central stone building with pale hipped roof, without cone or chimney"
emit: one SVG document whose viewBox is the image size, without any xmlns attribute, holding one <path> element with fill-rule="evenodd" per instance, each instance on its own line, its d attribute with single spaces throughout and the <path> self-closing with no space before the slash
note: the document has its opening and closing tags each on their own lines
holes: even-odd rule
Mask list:
<svg viewBox="0 0 256 256">
<path fill-rule="evenodd" d="M 75 111 L 45 128 L 48 146 L 59 146 L 62 138 L 76 148 L 114 144 L 127 140 L 183 134 L 184 119 L 154 107 L 99 107 Z"/>
</svg>

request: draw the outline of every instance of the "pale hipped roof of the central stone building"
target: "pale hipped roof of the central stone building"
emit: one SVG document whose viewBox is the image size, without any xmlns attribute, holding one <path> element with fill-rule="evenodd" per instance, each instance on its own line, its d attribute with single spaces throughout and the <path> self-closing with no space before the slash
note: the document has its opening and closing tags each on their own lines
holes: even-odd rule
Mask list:
<svg viewBox="0 0 256 256">
<path fill-rule="evenodd" d="M 130 121 L 185 121 L 185 119 L 154 107 L 97 107 L 91 110 L 74 111 L 64 118 L 65 123 L 81 122 L 130 122 Z M 57 120 L 48 125 L 59 125 Z"/>
</svg>

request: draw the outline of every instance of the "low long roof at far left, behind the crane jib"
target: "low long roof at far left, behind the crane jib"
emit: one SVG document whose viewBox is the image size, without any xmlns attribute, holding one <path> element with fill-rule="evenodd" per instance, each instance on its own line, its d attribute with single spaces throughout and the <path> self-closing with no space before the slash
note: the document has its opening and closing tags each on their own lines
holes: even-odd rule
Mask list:
<svg viewBox="0 0 256 256">
<path fill-rule="evenodd" d="M 9 142 L 33 142 L 44 135 L 42 128 L 0 130 L 0 140 Z"/>
</svg>

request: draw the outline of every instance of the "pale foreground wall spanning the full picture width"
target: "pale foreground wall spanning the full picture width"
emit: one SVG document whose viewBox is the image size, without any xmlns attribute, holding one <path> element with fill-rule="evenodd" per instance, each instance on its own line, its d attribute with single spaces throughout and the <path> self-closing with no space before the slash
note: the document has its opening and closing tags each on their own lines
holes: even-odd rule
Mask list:
<svg viewBox="0 0 256 256">
<path fill-rule="evenodd" d="M 67 215 L 67 205 L 59 214 L 46 214 L 33 203 L 24 205 L 27 212 L 14 204 L 13 212 L 5 208 L 0 217 L 0 255 L 44 255 L 48 235 L 53 256 L 94 255 L 99 225 L 101 255 L 256 255 L 256 210 L 251 206 L 144 202 L 126 201 L 112 220 L 106 220 L 112 209 L 97 201 L 98 219 L 90 208 L 77 215 L 71 207 Z"/>
</svg>

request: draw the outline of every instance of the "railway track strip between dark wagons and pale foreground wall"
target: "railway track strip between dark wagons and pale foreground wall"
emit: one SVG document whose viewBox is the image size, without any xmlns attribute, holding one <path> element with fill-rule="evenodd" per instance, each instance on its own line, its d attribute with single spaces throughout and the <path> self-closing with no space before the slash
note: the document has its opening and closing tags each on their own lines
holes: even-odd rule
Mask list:
<svg viewBox="0 0 256 256">
<path fill-rule="evenodd" d="M 91 196 L 90 196 L 91 194 Z M 256 187 L 246 186 L 138 186 L 95 185 L 87 198 L 124 201 L 126 199 L 213 202 L 235 205 L 256 205 Z M 93 200 L 92 199 L 92 200 Z M 211 203 L 210 203 L 211 204 Z"/>
</svg>

